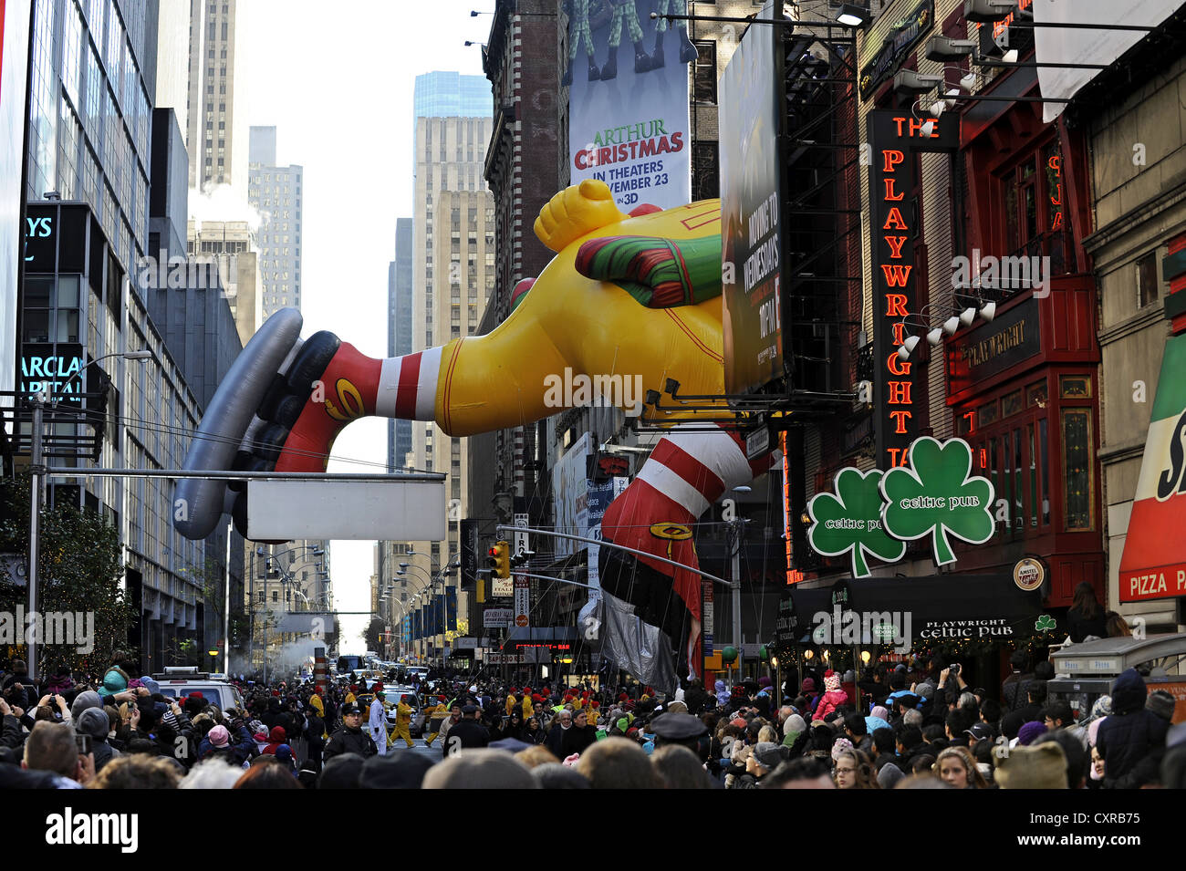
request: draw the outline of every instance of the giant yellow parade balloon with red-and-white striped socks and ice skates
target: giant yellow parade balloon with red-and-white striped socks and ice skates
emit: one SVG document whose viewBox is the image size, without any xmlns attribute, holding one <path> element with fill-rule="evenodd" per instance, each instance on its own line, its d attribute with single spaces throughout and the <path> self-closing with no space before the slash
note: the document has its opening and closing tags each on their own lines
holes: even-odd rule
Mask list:
<svg viewBox="0 0 1186 871">
<path fill-rule="evenodd" d="M 604 181 L 587 179 L 553 197 L 534 229 L 555 257 L 518 282 L 510 314 L 485 335 L 376 359 L 329 332 L 302 342 L 299 312 L 274 314 L 219 384 L 185 469 L 324 472 L 337 435 L 368 416 L 467 436 L 602 402 L 667 428 L 606 510 L 592 604 L 604 610 L 602 655 L 672 692 L 700 668 L 702 576 L 691 536 L 671 530 L 693 529 L 779 460 L 747 457 L 738 430 L 719 425 L 731 415 L 720 200 L 624 214 Z M 722 398 L 695 410 L 646 402 L 674 382 L 682 395 Z M 209 536 L 223 513 L 246 534 L 242 483 L 184 479 L 177 494 L 174 525 L 187 538 Z"/>
</svg>

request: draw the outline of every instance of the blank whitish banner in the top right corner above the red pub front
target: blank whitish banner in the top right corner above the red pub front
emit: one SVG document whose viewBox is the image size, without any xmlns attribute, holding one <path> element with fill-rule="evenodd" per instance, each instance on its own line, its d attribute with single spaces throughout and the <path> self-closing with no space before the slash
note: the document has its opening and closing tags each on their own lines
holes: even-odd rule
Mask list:
<svg viewBox="0 0 1186 871">
<path fill-rule="evenodd" d="M 1144 25 L 1156 27 L 1178 11 L 1181 0 L 1032 0 L 1029 6 L 1035 24 L 1101 25 L 1099 28 L 1035 27 L 1034 60 L 1039 64 L 1111 64 L 1116 58 L 1144 39 L 1142 31 L 1108 30 L 1109 25 Z M 1038 87 L 1044 97 L 1070 98 L 1102 70 L 1069 70 L 1039 66 Z M 1057 119 L 1065 103 L 1042 103 L 1046 123 Z"/>
</svg>

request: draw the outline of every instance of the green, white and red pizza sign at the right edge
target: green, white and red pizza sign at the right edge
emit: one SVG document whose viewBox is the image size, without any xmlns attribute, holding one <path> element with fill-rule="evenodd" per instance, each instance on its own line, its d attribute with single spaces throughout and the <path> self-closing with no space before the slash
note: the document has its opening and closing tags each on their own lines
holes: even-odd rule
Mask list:
<svg viewBox="0 0 1186 871">
<path fill-rule="evenodd" d="M 1141 476 L 1120 561 L 1120 601 L 1186 595 L 1186 334 L 1161 358 Z"/>
</svg>

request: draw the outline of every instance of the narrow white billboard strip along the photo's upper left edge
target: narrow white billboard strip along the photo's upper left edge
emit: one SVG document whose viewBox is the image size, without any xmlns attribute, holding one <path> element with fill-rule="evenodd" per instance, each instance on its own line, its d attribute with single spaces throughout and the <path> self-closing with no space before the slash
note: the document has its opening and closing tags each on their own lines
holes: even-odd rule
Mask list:
<svg viewBox="0 0 1186 871">
<path fill-rule="evenodd" d="M 17 386 L 17 286 L 31 0 L 0 0 L 0 391 Z"/>
</svg>

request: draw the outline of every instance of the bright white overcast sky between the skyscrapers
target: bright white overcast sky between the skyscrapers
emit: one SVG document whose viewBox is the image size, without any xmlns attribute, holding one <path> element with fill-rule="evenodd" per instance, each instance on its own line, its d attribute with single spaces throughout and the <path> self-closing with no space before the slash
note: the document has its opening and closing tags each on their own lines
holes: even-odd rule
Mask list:
<svg viewBox="0 0 1186 871">
<path fill-rule="evenodd" d="M 304 334 L 331 329 L 387 357 L 387 268 L 395 219 L 412 216 L 412 94 L 433 70 L 482 75 L 492 0 L 240 0 L 248 27 L 248 123 L 276 127 L 276 161 L 305 167 Z M 236 94 L 236 101 L 240 96 Z M 246 145 L 246 143 L 244 143 Z M 333 446 L 331 472 L 377 470 L 387 424 L 365 418 Z M 333 542 L 340 610 L 369 608 L 372 542 Z M 365 617 L 343 619 L 361 653 Z"/>
</svg>

